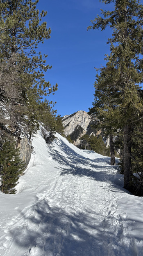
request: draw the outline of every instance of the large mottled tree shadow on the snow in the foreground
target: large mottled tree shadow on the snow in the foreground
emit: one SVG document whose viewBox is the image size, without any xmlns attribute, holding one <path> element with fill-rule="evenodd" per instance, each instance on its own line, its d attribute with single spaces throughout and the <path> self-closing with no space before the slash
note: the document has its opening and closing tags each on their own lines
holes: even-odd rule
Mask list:
<svg viewBox="0 0 143 256">
<path fill-rule="evenodd" d="M 119 239 L 123 224 L 112 229 L 110 216 L 105 219 L 85 209 L 69 213 L 66 206 L 52 208 L 49 204 L 45 199 L 37 202 L 30 216 L 23 214 L 24 223 L 11 230 L 13 246 L 23 252 L 19 256 L 119 256 L 121 251 L 131 255 Z"/>
</svg>

